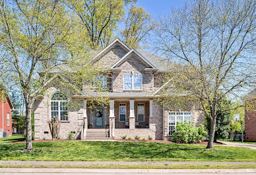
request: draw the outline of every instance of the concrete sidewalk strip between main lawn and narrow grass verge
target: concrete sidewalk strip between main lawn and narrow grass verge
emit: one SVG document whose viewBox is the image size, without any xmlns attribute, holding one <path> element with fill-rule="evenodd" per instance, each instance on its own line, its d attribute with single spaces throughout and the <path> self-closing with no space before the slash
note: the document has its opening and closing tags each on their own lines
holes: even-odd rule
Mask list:
<svg viewBox="0 0 256 175">
<path fill-rule="evenodd" d="M 208 161 L 0 161 L 0 164 L 256 164 L 254 162 L 208 162 Z"/>
</svg>

